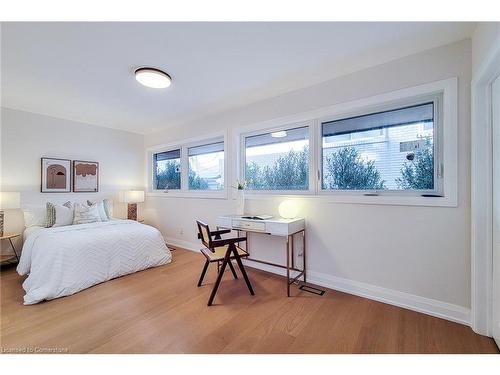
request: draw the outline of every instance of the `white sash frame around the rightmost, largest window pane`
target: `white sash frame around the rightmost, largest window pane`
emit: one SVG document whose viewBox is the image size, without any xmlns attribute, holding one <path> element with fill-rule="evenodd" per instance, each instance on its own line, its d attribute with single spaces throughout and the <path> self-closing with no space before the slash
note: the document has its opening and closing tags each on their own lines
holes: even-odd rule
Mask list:
<svg viewBox="0 0 500 375">
<path fill-rule="evenodd" d="M 377 190 L 377 189 L 366 189 L 366 190 L 342 190 L 342 189 L 324 189 L 323 188 L 323 123 L 343 120 L 350 117 L 370 115 L 378 112 L 398 110 L 405 107 L 410 107 L 413 105 L 433 103 L 433 153 L 434 153 L 434 189 L 427 190 Z M 385 102 L 381 104 L 375 104 L 373 106 L 359 108 L 354 111 L 338 113 L 336 115 L 323 116 L 318 119 L 319 126 L 319 144 L 316 149 L 316 158 L 318 160 L 318 194 L 320 195 L 354 195 L 354 196 L 410 196 L 410 197 L 421 197 L 423 194 L 433 194 L 438 196 L 444 195 L 444 183 L 442 177 L 443 169 L 443 153 L 442 153 L 442 128 L 443 128 L 443 115 L 442 115 L 442 104 L 443 104 L 443 94 L 442 93 L 431 93 L 427 95 L 419 95 L 416 97 L 409 97 L 400 100 Z M 383 129 L 387 137 L 387 128 Z M 387 138 L 386 138 L 387 139 Z M 434 197 L 433 197 L 434 198 Z"/>
</svg>

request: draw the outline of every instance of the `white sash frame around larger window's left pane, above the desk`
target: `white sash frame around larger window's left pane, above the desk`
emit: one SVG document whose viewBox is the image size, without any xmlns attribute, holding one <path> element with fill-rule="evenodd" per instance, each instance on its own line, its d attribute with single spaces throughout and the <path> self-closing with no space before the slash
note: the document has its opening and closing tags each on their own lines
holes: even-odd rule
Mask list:
<svg viewBox="0 0 500 375">
<path fill-rule="evenodd" d="M 308 138 L 309 138 L 309 184 L 307 190 L 260 190 L 260 189 L 245 189 L 245 196 L 248 195 L 314 195 L 316 193 L 315 188 L 315 174 L 311 173 L 314 170 L 314 151 L 312 148 L 313 143 L 313 133 L 314 133 L 314 122 L 313 121 L 303 121 L 292 124 L 281 125 L 273 128 L 258 129 L 248 132 L 243 132 L 239 134 L 239 168 L 237 175 L 239 176 L 239 181 L 245 181 L 246 174 L 246 138 L 253 137 L 256 135 L 270 134 L 283 130 L 292 130 L 297 128 L 307 128 Z"/>
</svg>

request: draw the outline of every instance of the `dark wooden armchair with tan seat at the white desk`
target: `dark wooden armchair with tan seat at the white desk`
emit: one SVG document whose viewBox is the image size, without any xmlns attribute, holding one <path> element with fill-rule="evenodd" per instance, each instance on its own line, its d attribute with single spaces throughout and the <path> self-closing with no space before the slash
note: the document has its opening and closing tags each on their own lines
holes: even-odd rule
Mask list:
<svg viewBox="0 0 500 375">
<path fill-rule="evenodd" d="M 241 258 L 248 257 L 249 254 L 241 247 L 236 245 L 239 242 L 245 242 L 247 240 L 246 237 L 222 239 L 221 235 L 230 233 L 230 229 L 211 232 L 207 224 L 198 220 L 196 221 L 196 224 L 198 225 L 198 238 L 200 238 L 203 245 L 205 245 L 205 248 L 201 249 L 201 253 L 206 258 L 205 265 L 203 266 L 203 270 L 201 271 L 200 280 L 198 281 L 198 286 L 202 285 L 203 278 L 205 277 L 205 273 L 207 272 L 209 264 L 214 262 L 217 262 L 218 264 L 217 280 L 215 281 L 215 285 L 212 289 L 212 294 L 210 295 L 210 298 L 208 300 L 208 306 L 211 306 L 212 302 L 214 301 L 215 295 L 217 294 L 217 289 L 219 289 L 219 284 L 222 280 L 222 276 L 224 275 L 224 271 L 227 265 L 229 265 L 234 278 L 238 278 L 233 267 L 232 260 L 236 260 L 243 278 L 245 279 L 248 290 L 253 296 L 255 293 L 252 289 L 252 284 L 250 284 L 250 280 L 245 271 L 245 267 L 241 262 Z M 220 262 L 222 262 L 222 265 L 220 265 Z"/>
</svg>

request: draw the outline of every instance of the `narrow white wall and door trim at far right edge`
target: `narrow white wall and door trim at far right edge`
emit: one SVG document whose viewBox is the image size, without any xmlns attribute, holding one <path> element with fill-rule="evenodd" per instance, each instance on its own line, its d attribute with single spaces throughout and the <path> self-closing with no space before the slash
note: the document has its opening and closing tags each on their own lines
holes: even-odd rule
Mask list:
<svg viewBox="0 0 500 375">
<path fill-rule="evenodd" d="M 479 23 L 472 35 L 472 328 L 491 335 L 492 124 L 491 82 L 500 74 L 500 23 Z"/>
</svg>

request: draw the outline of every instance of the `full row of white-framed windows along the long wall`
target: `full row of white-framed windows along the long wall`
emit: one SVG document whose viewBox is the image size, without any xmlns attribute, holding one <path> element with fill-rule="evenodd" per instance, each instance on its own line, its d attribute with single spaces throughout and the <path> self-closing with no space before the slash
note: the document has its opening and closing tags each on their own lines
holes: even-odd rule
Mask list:
<svg viewBox="0 0 500 375">
<path fill-rule="evenodd" d="M 247 199 L 456 207 L 457 92 L 450 78 L 152 146 L 148 194 L 232 199 L 239 180 Z"/>
</svg>

